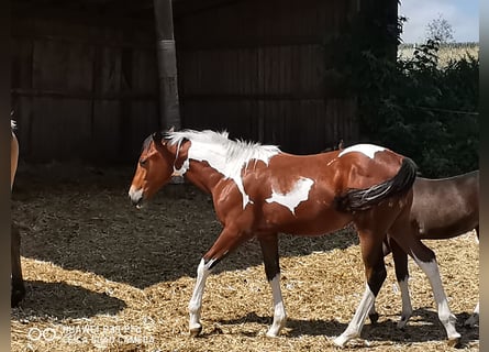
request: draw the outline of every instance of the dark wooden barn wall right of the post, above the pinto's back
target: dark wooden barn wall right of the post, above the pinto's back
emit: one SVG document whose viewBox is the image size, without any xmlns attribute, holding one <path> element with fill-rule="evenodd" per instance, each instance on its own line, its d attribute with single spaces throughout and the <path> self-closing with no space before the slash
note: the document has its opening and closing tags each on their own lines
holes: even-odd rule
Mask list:
<svg viewBox="0 0 489 352">
<path fill-rule="evenodd" d="M 176 13 L 182 125 L 307 154 L 356 141 L 356 100 L 326 91 L 324 43 L 358 1 L 230 1 Z"/>
</svg>

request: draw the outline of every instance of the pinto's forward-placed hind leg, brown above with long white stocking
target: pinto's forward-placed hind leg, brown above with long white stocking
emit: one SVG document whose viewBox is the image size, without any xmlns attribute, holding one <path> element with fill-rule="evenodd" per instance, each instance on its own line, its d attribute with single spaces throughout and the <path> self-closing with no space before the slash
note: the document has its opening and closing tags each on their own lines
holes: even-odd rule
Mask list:
<svg viewBox="0 0 489 352">
<path fill-rule="evenodd" d="M 360 336 L 367 315 L 371 311 L 375 298 L 387 277 L 381 242 L 374 235 L 366 235 L 359 231 L 362 255 L 365 264 L 367 284 L 364 296 L 358 305 L 352 321 L 346 330 L 336 339 L 334 344 L 344 346 L 346 342 Z"/>
</svg>

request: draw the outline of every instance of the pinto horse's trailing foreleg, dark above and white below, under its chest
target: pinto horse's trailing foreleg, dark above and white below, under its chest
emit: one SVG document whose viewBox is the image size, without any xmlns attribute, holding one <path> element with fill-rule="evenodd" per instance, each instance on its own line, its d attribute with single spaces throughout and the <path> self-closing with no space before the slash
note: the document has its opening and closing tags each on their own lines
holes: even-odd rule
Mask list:
<svg viewBox="0 0 489 352">
<path fill-rule="evenodd" d="M 286 326 L 287 314 L 280 289 L 280 264 L 278 257 L 277 234 L 259 238 L 264 257 L 265 274 L 271 287 L 274 297 L 274 322 L 267 331 L 267 337 L 276 338 Z"/>
</svg>

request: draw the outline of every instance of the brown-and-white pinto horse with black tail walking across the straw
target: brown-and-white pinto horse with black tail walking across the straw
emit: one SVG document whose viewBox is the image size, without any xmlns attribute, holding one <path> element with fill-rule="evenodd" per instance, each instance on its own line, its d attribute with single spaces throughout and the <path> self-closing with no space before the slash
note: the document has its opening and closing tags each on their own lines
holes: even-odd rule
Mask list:
<svg viewBox="0 0 489 352">
<path fill-rule="evenodd" d="M 299 156 L 274 145 L 232 141 L 226 132 L 169 131 L 156 132 L 144 141 L 129 196 L 133 205 L 142 208 L 174 175 L 186 177 L 212 195 L 223 229 L 197 268 L 189 302 L 191 336 L 202 329 L 202 296 L 211 271 L 231 251 L 256 237 L 274 300 L 274 321 L 267 336 L 277 337 L 287 319 L 280 289 L 278 233 L 321 235 L 353 222 L 367 284 L 352 321 L 334 343 L 343 346 L 360 334 L 387 276 L 382 241 L 389 230 L 429 276 L 448 339 L 458 341 L 460 334 L 455 330 L 435 254 L 410 235 L 408 220 L 415 174 L 410 158 L 370 144 Z"/>
</svg>

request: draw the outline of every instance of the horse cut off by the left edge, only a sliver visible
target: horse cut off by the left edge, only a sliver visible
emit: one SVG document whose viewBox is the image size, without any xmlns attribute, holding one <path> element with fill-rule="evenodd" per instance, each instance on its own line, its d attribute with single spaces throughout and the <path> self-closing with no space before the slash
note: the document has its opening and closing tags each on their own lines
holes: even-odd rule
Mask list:
<svg viewBox="0 0 489 352">
<path fill-rule="evenodd" d="M 11 120 L 10 128 L 12 130 L 12 138 L 10 142 L 10 189 L 13 188 L 13 182 L 15 179 L 16 166 L 19 162 L 19 141 L 13 132 L 15 129 L 15 122 Z M 11 238 L 10 238 L 10 256 L 12 266 L 12 293 L 10 298 L 10 305 L 15 307 L 25 296 L 24 279 L 22 277 L 21 267 L 21 237 L 16 226 L 11 226 Z"/>
</svg>

